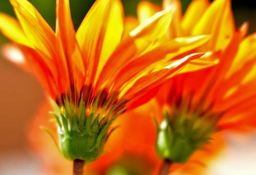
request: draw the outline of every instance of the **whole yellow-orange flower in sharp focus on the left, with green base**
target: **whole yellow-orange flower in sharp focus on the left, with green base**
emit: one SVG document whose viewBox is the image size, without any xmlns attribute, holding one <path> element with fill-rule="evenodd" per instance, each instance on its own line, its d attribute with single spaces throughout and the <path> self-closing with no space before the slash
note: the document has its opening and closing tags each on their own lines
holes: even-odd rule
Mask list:
<svg viewBox="0 0 256 175">
<path fill-rule="evenodd" d="M 25 58 L 11 60 L 32 69 L 53 99 L 60 152 L 75 167 L 100 156 L 116 116 L 148 101 L 158 85 L 190 61 L 212 64 L 208 54 L 186 54 L 208 36 L 165 39 L 174 8 L 128 34 L 121 2 L 98 0 L 76 32 L 69 1 L 57 0 L 54 32 L 27 0 L 10 2 L 18 20 L 1 14 L 0 29 Z M 7 47 L 7 57 L 16 48 Z"/>
</svg>

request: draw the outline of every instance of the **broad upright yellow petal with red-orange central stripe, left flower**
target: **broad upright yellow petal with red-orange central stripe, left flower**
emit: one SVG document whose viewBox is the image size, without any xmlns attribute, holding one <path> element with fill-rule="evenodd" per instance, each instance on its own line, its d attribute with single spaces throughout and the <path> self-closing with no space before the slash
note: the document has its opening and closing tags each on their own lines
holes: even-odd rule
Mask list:
<svg viewBox="0 0 256 175">
<path fill-rule="evenodd" d="M 123 8 L 119 0 L 97 0 L 79 27 L 76 38 L 88 64 L 89 83 L 109 59 L 121 40 Z"/>
</svg>

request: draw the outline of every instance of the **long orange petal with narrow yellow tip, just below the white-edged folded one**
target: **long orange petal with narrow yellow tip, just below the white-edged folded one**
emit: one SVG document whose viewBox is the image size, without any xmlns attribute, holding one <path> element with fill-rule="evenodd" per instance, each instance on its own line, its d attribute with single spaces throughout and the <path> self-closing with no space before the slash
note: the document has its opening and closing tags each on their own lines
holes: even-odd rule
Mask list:
<svg viewBox="0 0 256 175">
<path fill-rule="evenodd" d="M 141 71 L 144 71 L 145 69 L 147 71 L 154 69 L 154 67 L 157 65 L 152 64 L 156 63 L 157 61 L 164 61 L 164 58 L 167 54 L 178 55 L 185 53 L 193 49 L 193 46 L 196 48 L 199 45 L 205 43 L 207 40 L 207 36 L 197 36 L 176 38 L 174 40 L 165 42 L 152 51 L 127 64 L 122 70 L 120 70 L 113 88 L 118 90 L 126 82 L 132 81 L 137 74 L 141 73 Z"/>
</svg>

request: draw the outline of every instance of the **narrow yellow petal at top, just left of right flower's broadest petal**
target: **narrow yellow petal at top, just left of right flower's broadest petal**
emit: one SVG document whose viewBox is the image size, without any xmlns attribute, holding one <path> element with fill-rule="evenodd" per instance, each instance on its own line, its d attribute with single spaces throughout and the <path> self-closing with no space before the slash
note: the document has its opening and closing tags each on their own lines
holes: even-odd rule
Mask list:
<svg viewBox="0 0 256 175">
<path fill-rule="evenodd" d="M 196 26 L 208 5 L 208 0 L 194 0 L 191 2 L 182 19 L 182 29 L 185 35 L 191 35 L 192 29 Z"/>
</svg>

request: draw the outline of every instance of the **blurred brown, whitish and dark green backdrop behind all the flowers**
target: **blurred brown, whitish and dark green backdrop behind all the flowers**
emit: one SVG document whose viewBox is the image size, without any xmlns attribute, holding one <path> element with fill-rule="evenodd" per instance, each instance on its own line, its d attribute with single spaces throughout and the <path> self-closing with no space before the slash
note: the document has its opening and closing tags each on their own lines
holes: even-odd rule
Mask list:
<svg viewBox="0 0 256 175">
<path fill-rule="evenodd" d="M 52 28 L 55 28 L 55 1 L 30 1 L 45 17 Z M 72 0 L 71 11 L 75 28 L 77 29 L 84 15 L 92 6 L 94 0 Z M 136 16 L 139 0 L 123 0 L 126 16 Z M 161 4 L 161 0 L 151 0 Z M 182 0 L 183 11 L 189 0 Z M 256 31 L 256 6 L 254 1 L 232 1 L 234 19 L 237 27 L 244 21 L 250 24 L 249 33 Z M 14 15 L 8 0 L 0 1 L 0 11 Z M 0 34 L 0 44 L 8 40 Z M 42 91 L 37 80 L 6 60 L 0 58 L 0 174 L 40 174 L 40 161 L 34 156 L 29 145 L 26 130 L 32 121 L 38 107 L 44 101 Z M 250 169 L 256 167 L 256 137 L 254 135 L 243 138 L 229 136 L 230 148 L 224 152 L 218 164 L 212 165 L 215 174 L 256 174 Z M 244 152 L 246 146 L 246 152 Z M 239 155 L 239 157 L 237 156 Z M 239 158 L 239 164 L 236 159 Z M 251 159 L 251 161 L 250 161 Z M 244 164 L 241 164 L 244 160 Z M 254 161 L 253 161 L 254 160 Z M 242 161 L 243 162 L 243 161 Z M 254 164 L 253 164 L 254 163 Z M 14 168 L 15 167 L 15 168 Z M 27 168 L 30 167 L 30 168 Z M 223 168 L 232 171 L 225 173 Z M 16 172 L 18 170 L 18 173 Z M 248 173 L 245 173 L 246 170 Z M 250 173 L 251 172 L 251 173 Z M 208 174 L 211 174 L 210 170 Z"/>
</svg>

